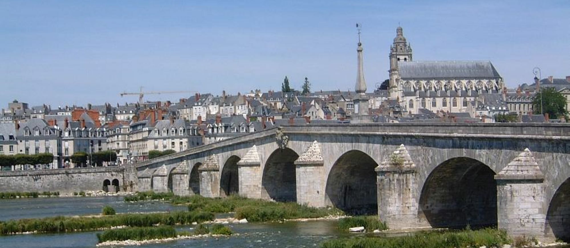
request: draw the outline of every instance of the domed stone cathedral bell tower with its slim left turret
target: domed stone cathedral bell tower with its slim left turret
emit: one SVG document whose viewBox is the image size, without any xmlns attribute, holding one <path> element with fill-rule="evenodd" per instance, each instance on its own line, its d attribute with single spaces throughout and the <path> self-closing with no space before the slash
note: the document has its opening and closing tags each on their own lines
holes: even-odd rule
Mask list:
<svg viewBox="0 0 570 248">
<path fill-rule="evenodd" d="M 406 42 L 402 27 L 396 29 L 396 38 L 390 47 L 390 99 L 397 99 L 398 94 L 398 62 L 412 61 L 412 46 Z"/>
</svg>

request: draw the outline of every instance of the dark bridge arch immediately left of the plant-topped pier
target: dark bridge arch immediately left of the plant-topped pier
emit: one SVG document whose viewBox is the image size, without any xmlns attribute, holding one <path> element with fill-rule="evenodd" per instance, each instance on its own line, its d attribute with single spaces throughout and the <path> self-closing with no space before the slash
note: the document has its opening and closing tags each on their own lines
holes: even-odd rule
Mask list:
<svg viewBox="0 0 570 248">
<path fill-rule="evenodd" d="M 325 193 L 331 204 L 350 214 L 376 214 L 378 164 L 366 153 L 352 150 L 340 156 L 331 168 Z"/>
</svg>

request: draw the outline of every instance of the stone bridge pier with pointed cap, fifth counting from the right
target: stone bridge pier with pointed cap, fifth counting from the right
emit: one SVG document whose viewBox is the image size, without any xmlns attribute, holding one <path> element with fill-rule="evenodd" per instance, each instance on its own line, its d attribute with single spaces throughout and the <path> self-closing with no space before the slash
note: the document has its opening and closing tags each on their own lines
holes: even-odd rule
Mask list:
<svg viewBox="0 0 570 248">
<path fill-rule="evenodd" d="M 218 157 L 211 155 L 198 171 L 200 171 L 200 195 L 209 198 L 219 197 Z"/>
</svg>

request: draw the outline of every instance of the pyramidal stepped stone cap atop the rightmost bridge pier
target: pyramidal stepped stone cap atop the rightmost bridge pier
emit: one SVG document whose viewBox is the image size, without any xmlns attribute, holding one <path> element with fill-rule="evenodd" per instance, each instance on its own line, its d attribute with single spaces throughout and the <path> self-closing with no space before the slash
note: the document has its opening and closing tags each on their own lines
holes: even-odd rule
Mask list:
<svg viewBox="0 0 570 248">
<path fill-rule="evenodd" d="M 499 174 L 496 174 L 495 179 L 544 180 L 544 174 L 535 157 L 532 156 L 532 152 L 526 148 L 508 163 Z"/>
</svg>

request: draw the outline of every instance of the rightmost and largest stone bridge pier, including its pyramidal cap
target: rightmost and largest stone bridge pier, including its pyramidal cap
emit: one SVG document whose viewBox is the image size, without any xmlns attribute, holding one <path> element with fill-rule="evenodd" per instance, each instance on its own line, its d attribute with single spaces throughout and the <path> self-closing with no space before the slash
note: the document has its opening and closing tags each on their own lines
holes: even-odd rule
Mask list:
<svg viewBox="0 0 570 248">
<path fill-rule="evenodd" d="M 544 174 L 531 151 L 524 149 L 495 180 L 499 229 L 511 237 L 544 237 Z"/>
</svg>

